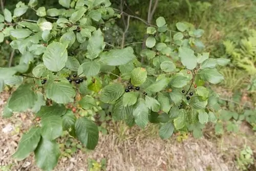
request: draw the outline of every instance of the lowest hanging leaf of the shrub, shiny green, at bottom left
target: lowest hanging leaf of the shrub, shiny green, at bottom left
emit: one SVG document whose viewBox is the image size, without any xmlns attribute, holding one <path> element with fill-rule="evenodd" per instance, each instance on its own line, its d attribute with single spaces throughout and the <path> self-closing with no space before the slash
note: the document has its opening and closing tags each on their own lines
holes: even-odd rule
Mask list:
<svg viewBox="0 0 256 171">
<path fill-rule="evenodd" d="M 35 150 L 36 165 L 43 170 L 53 170 L 58 163 L 59 156 L 58 143 L 41 138 Z"/>
</svg>

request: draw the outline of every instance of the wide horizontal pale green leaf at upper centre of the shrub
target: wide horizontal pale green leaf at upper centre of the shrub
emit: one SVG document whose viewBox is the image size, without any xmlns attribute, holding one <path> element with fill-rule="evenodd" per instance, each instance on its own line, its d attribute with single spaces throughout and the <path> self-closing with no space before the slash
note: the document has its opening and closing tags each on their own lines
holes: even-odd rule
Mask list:
<svg viewBox="0 0 256 171">
<path fill-rule="evenodd" d="M 125 56 L 125 57 L 124 57 Z M 109 66 L 121 66 L 136 58 L 133 48 L 114 49 L 100 55 L 100 60 Z"/>
</svg>

